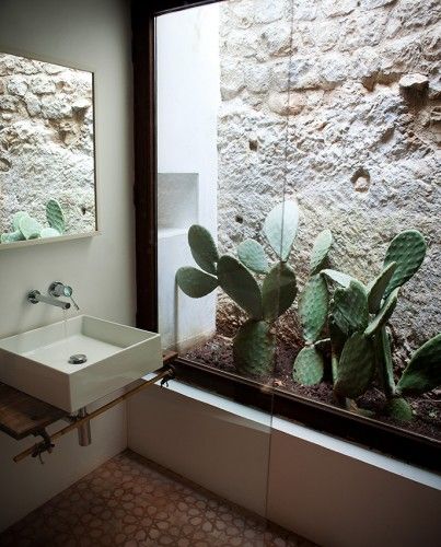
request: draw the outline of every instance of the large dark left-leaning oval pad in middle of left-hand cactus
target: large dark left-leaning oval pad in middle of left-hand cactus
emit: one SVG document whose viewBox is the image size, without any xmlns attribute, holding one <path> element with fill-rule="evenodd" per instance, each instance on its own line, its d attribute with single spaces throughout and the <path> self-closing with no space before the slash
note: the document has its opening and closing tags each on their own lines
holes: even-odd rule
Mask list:
<svg viewBox="0 0 441 547">
<path fill-rule="evenodd" d="M 262 318 L 262 292 L 257 281 L 239 260 L 221 256 L 218 263 L 219 284 L 253 318 Z"/>
</svg>

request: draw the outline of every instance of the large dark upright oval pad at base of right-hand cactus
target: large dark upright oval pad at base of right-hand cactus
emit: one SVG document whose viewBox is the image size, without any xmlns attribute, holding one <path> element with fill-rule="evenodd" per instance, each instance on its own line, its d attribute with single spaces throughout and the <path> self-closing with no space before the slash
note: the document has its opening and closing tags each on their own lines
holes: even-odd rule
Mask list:
<svg viewBox="0 0 441 547">
<path fill-rule="evenodd" d="M 352 399 L 359 397 L 371 383 L 374 371 L 372 342 L 359 333 L 353 334 L 341 351 L 335 393 Z"/>
</svg>

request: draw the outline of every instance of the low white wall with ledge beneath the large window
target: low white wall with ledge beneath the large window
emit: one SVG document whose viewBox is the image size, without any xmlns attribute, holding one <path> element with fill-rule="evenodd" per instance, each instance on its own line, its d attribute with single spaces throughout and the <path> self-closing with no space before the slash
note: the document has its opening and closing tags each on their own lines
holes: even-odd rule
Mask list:
<svg viewBox="0 0 441 547">
<path fill-rule="evenodd" d="M 278 418 L 270 429 L 176 381 L 163 392 L 129 401 L 136 452 L 318 545 L 439 545 L 440 476 Z"/>
</svg>

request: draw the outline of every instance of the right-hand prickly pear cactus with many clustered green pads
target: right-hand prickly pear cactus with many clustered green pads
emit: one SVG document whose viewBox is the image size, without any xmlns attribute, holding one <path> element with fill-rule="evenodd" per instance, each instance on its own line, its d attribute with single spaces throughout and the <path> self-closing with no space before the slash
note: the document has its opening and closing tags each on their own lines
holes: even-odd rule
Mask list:
<svg viewBox="0 0 441 547">
<path fill-rule="evenodd" d="M 324 232 L 322 232 L 324 234 Z M 399 288 L 419 269 L 426 254 L 423 236 L 416 230 L 399 233 L 391 242 L 383 271 L 367 287 L 352 276 L 323 268 L 317 249 L 329 251 L 330 245 L 320 234 L 311 257 L 311 279 L 300 296 L 299 314 L 306 346 L 293 363 L 293 377 L 303 385 L 320 383 L 316 373 L 322 331 L 330 337 L 330 369 L 337 403 L 353 411 L 363 411 L 350 399 L 371 387 L 375 372 L 384 392 L 384 411 L 398 420 L 413 418 L 407 394 L 421 394 L 441 385 L 441 334 L 421 346 L 413 356 L 397 385 L 395 385 L 391 340 L 386 324 L 397 305 Z M 332 240 L 330 240 L 332 241 Z M 327 256 L 327 252 L 325 256 Z M 318 258 L 317 258 L 318 257 Z M 317 278 L 327 281 L 325 291 Z M 327 305 L 327 294 L 330 294 Z M 325 317 L 324 317 L 325 316 Z M 323 318 L 324 317 L 324 318 Z M 306 356 L 314 354 L 314 359 Z M 323 359 L 323 354 L 322 354 Z M 307 366 L 311 368 L 309 373 Z M 322 374 L 323 375 L 323 374 Z"/>
</svg>

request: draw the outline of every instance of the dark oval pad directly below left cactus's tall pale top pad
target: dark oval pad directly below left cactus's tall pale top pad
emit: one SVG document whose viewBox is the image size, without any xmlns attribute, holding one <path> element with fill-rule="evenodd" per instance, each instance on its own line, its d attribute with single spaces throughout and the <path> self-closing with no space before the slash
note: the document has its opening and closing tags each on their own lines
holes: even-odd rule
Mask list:
<svg viewBox="0 0 441 547">
<path fill-rule="evenodd" d="M 297 295 L 295 274 L 285 263 L 274 266 L 264 279 L 262 300 L 264 317 L 274 321 L 283 314 Z"/>
</svg>

